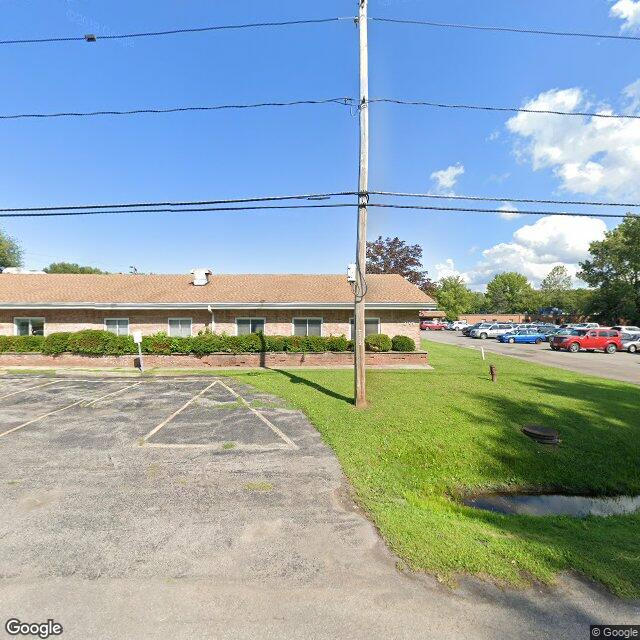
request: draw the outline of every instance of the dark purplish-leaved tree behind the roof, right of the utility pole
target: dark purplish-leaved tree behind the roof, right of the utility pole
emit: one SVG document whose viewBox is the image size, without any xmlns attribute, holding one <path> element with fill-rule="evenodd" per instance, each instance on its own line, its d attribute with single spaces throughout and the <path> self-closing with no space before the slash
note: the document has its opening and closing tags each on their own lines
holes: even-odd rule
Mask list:
<svg viewBox="0 0 640 640">
<path fill-rule="evenodd" d="M 435 293 L 435 284 L 422 268 L 422 247 L 400 238 L 378 236 L 367 242 L 367 273 L 397 273 L 425 293 Z"/>
</svg>

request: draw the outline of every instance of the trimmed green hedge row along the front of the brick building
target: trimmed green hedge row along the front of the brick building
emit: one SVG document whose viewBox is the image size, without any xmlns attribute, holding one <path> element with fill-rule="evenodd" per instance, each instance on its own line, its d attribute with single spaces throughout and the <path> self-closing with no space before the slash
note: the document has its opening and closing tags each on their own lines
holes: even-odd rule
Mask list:
<svg viewBox="0 0 640 640">
<path fill-rule="evenodd" d="M 395 336 L 393 340 L 384 334 L 367 336 L 368 351 L 415 351 L 411 338 Z M 315 352 L 353 351 L 353 342 L 344 336 L 265 336 L 252 333 L 244 336 L 204 333 L 192 338 L 171 338 L 166 333 L 156 333 L 142 338 L 142 352 L 155 355 L 210 353 L 261 353 L 266 351 Z M 0 336 L 0 352 L 41 352 L 47 355 L 75 353 L 88 356 L 119 356 L 135 354 L 137 345 L 131 336 L 116 336 L 108 331 L 78 331 L 76 333 L 52 333 L 42 336 Z"/>
</svg>

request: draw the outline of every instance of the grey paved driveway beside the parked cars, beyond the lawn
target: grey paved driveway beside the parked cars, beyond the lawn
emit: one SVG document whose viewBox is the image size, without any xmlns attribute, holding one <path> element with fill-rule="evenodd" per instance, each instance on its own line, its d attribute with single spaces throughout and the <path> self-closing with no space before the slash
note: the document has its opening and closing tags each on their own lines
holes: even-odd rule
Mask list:
<svg viewBox="0 0 640 640">
<path fill-rule="evenodd" d="M 500 353 L 576 373 L 640 384 L 640 353 L 620 352 L 611 355 L 603 352 L 588 353 L 587 351 L 567 353 L 552 351 L 546 342 L 540 345 L 503 344 L 495 339 L 466 338 L 458 331 L 422 331 L 421 333 L 424 340 L 477 350 L 484 348 L 487 353 Z"/>
</svg>

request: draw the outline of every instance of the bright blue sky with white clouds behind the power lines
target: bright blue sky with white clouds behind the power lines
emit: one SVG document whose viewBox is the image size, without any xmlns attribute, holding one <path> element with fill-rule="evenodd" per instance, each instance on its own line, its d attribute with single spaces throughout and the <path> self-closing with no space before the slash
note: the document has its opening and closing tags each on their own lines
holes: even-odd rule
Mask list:
<svg viewBox="0 0 640 640">
<path fill-rule="evenodd" d="M 370 12 L 617 34 L 640 24 L 639 4 L 371 0 Z M 355 0 L 4 0 L 0 39 L 349 16 L 356 10 Z M 640 43 L 381 23 L 371 25 L 370 43 L 372 96 L 638 109 L 640 90 L 632 85 L 640 78 Z M 5 46 L 0 56 L 0 113 L 358 93 L 357 31 L 348 21 L 93 45 Z M 640 125 L 598 128 L 588 119 L 567 120 L 373 105 L 371 188 L 640 199 L 634 180 L 640 169 Z M 339 106 L 3 121 L 0 141 L 4 207 L 357 186 L 358 119 Z M 464 173 L 458 169 L 456 180 L 440 184 L 431 177 L 449 167 L 463 167 Z M 22 243 L 30 268 L 64 259 L 113 271 L 136 265 L 147 272 L 185 272 L 195 266 L 228 273 L 342 272 L 353 260 L 355 243 L 350 209 L 0 224 Z M 372 210 L 369 237 L 397 235 L 418 243 L 432 276 L 460 272 L 481 288 L 507 268 L 525 271 L 534 282 L 554 264 L 575 269 L 588 242 L 604 229 L 600 221 Z"/>
</svg>

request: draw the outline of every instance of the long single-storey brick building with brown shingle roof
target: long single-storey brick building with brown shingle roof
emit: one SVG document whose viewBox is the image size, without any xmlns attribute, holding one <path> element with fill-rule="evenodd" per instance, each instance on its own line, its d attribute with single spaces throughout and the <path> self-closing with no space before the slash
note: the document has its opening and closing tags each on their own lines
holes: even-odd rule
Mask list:
<svg viewBox="0 0 640 640">
<path fill-rule="evenodd" d="M 419 311 L 436 303 L 398 275 L 367 276 L 367 333 L 419 344 Z M 343 275 L 76 275 L 0 273 L 0 335 L 140 330 L 191 336 L 351 337 L 353 293 Z"/>
</svg>

